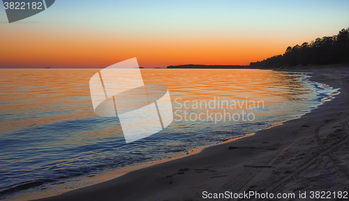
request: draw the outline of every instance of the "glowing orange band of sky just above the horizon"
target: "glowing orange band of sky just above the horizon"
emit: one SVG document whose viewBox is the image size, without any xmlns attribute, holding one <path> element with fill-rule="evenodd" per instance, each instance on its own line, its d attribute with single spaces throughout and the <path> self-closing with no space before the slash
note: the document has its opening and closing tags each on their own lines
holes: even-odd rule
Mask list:
<svg viewBox="0 0 349 201">
<path fill-rule="evenodd" d="M 26 38 L 6 33 L 1 44 L 2 68 L 104 68 L 137 57 L 140 66 L 161 67 L 181 64 L 249 65 L 275 54 L 287 45 L 251 36 L 189 36 L 183 39 L 134 38 L 86 34 L 57 34 L 28 31 Z M 248 38 L 251 37 L 251 38 Z M 126 39 L 125 39 L 126 38 Z M 247 41 L 247 42 L 246 42 Z M 292 43 L 292 41 L 290 41 Z"/>
</svg>

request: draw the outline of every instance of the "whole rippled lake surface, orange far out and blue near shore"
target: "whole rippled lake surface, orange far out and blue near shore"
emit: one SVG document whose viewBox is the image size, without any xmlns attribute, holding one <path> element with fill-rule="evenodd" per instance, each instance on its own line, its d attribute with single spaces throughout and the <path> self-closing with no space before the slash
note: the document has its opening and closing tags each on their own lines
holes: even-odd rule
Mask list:
<svg viewBox="0 0 349 201">
<path fill-rule="evenodd" d="M 336 93 L 302 73 L 141 69 L 146 84 L 168 87 L 174 121 L 126 144 L 117 118 L 94 113 L 89 79 L 99 70 L 0 69 L 0 198 L 29 186 L 186 154 L 300 117 Z M 239 107 L 245 103 L 248 107 Z"/>
</svg>

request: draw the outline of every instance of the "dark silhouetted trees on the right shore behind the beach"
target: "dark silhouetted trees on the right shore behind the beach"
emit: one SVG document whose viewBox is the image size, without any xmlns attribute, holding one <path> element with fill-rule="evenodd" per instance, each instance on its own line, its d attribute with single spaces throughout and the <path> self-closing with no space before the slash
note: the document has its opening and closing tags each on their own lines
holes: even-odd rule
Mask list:
<svg viewBox="0 0 349 201">
<path fill-rule="evenodd" d="M 263 61 L 251 62 L 251 68 L 279 68 L 281 66 L 327 65 L 349 62 L 349 28 L 335 36 L 316 38 L 311 43 L 287 47 L 284 54 Z"/>
</svg>

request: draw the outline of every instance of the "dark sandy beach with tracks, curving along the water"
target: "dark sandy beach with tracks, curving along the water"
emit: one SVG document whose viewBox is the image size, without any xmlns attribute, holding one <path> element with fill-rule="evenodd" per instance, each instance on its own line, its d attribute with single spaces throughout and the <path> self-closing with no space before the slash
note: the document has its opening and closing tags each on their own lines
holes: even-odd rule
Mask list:
<svg viewBox="0 0 349 201">
<path fill-rule="evenodd" d="M 313 73 L 311 81 L 341 88 L 340 94 L 251 137 L 40 200 L 215 200 L 202 192 L 348 191 L 349 68 L 295 71 Z"/>
</svg>

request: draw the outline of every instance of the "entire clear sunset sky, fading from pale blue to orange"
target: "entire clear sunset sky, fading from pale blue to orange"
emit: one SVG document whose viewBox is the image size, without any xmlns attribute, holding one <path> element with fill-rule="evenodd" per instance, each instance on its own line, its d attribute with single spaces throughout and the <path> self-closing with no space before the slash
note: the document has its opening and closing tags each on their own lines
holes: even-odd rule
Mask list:
<svg viewBox="0 0 349 201">
<path fill-rule="evenodd" d="M 248 65 L 349 27 L 349 1 L 56 0 L 8 24 L 0 68 Z"/>
</svg>

